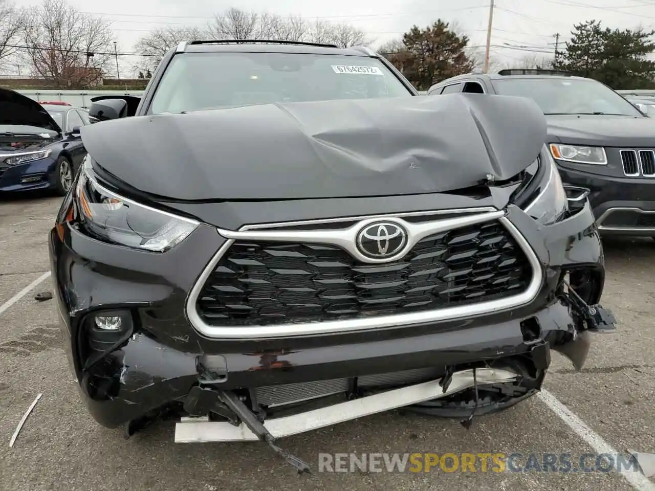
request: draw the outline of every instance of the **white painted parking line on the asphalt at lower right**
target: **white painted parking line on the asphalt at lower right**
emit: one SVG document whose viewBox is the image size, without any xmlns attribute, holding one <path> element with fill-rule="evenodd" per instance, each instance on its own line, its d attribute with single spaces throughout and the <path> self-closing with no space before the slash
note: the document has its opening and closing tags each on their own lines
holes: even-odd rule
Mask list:
<svg viewBox="0 0 655 491">
<path fill-rule="evenodd" d="M 548 406 L 559 418 L 567 424 L 578 437 L 586 441 L 593 450 L 599 454 L 618 454 L 618 452 L 598 433 L 588 427 L 584 421 L 573 414 L 571 410 L 559 402 L 559 399 L 546 389 L 538 393 L 538 397 Z M 621 475 L 626 481 L 638 491 L 655 491 L 655 483 L 645 475 L 637 471 L 622 471 Z"/>
</svg>

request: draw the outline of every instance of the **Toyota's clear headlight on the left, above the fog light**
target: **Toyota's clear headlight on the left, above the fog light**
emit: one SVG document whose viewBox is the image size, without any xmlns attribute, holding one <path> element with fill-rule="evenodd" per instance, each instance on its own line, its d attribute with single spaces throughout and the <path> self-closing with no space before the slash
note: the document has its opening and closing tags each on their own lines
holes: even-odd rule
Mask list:
<svg viewBox="0 0 655 491">
<path fill-rule="evenodd" d="M 164 252 L 187 238 L 199 223 L 143 206 L 105 189 L 81 172 L 75 189 L 81 227 L 104 242 Z"/>
</svg>

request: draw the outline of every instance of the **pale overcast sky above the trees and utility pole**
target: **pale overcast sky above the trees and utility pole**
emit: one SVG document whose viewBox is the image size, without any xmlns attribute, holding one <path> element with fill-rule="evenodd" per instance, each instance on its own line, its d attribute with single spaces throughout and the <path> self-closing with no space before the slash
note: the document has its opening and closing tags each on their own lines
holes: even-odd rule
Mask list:
<svg viewBox="0 0 655 491">
<path fill-rule="evenodd" d="M 438 18 L 457 21 L 469 35 L 470 45 L 483 46 L 489 20 L 489 0 L 68 1 L 83 12 L 102 15 L 111 21 L 121 52 L 132 52 L 134 43 L 151 29 L 204 27 L 211 22 L 214 12 L 230 7 L 282 16 L 301 15 L 309 20 L 348 22 L 375 39 L 373 47 L 400 37 L 414 24 L 425 27 Z M 14 2 L 20 6 L 40 3 L 39 0 Z M 553 53 L 555 33 L 559 32 L 560 42 L 566 41 L 572 25 L 584 20 L 601 20 L 612 28 L 655 28 L 655 0 L 495 0 L 495 4 L 491 55 L 503 62 L 519 60 L 533 52 Z M 130 61 L 121 60 L 121 66 L 130 65 Z"/>
</svg>

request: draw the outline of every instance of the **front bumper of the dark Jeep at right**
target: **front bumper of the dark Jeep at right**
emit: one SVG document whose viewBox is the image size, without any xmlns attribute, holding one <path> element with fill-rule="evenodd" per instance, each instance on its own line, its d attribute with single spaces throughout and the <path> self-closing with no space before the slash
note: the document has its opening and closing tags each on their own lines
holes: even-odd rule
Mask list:
<svg viewBox="0 0 655 491">
<path fill-rule="evenodd" d="M 557 164 L 564 183 L 589 189 L 602 235 L 655 237 L 655 179 L 591 174 Z"/>
</svg>

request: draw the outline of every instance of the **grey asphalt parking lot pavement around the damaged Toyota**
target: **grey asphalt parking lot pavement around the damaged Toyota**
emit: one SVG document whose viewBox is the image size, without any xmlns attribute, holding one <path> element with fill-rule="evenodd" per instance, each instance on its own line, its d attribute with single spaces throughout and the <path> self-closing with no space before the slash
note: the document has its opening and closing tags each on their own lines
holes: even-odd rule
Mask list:
<svg viewBox="0 0 655 491">
<path fill-rule="evenodd" d="M 125 440 L 122 431 L 88 416 L 60 345 L 54 300 L 34 299 L 52 291 L 47 233 L 59 203 L 34 196 L 0 201 L 0 490 L 655 490 L 635 469 L 622 474 L 576 467 L 584 454 L 589 469 L 600 453 L 655 453 L 653 240 L 605 240 L 603 304 L 616 314 L 619 329 L 593 337 L 581 372 L 553 353 L 540 395 L 477 418 L 468 430 L 454 420 L 394 411 L 281 443 L 315 469 L 321 453 L 427 452 L 437 460 L 446 453 L 521 454 L 512 469 L 485 472 L 477 465 L 476 472 L 446 472 L 454 465 L 449 460 L 430 472 L 355 469 L 299 477 L 265 445 L 175 444 L 172 423 Z M 39 393 L 10 448 L 16 425 Z M 544 454 L 571 454 L 577 470 L 565 472 L 559 464 L 555 471 L 525 469 L 530 454 L 538 462 Z"/>
</svg>

